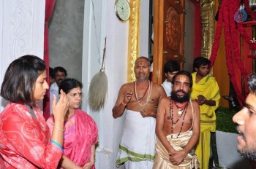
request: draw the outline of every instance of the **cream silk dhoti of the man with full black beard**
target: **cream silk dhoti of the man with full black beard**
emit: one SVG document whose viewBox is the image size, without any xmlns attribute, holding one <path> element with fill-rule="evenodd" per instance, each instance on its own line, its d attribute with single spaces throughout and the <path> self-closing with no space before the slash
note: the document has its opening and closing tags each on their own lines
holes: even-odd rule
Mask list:
<svg viewBox="0 0 256 169">
<path fill-rule="evenodd" d="M 189 138 L 192 136 L 192 130 L 181 133 L 177 138 L 178 134 L 173 134 L 173 138 L 171 135 L 167 135 L 167 141 L 169 141 L 170 145 L 176 151 L 180 151 L 184 146 L 187 145 Z M 162 145 L 161 141 L 157 138 L 157 146 L 156 146 L 156 155 L 154 160 L 154 169 L 192 169 L 199 168 L 199 162 L 197 160 L 197 156 L 195 155 L 195 149 L 192 149 L 187 157 L 184 158 L 184 161 L 181 162 L 180 165 L 173 165 L 169 160 L 169 154 L 165 149 L 165 146 Z"/>
</svg>

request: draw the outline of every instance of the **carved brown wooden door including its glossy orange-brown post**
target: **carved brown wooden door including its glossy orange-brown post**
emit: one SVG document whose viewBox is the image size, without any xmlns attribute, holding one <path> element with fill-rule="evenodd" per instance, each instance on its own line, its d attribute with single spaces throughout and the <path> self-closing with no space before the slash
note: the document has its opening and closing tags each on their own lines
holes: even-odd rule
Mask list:
<svg viewBox="0 0 256 169">
<path fill-rule="evenodd" d="M 184 67 L 184 0 L 154 1 L 153 81 L 165 80 L 163 66 L 176 60 Z"/>
</svg>

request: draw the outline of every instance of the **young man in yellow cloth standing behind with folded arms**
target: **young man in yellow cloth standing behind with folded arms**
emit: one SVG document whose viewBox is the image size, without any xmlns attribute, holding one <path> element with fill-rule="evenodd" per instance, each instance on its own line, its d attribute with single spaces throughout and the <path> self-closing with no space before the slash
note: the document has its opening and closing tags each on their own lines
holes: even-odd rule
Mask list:
<svg viewBox="0 0 256 169">
<path fill-rule="evenodd" d="M 212 148 L 214 164 L 219 166 L 216 146 L 216 114 L 215 110 L 219 107 L 219 86 L 216 79 L 209 75 L 211 61 L 207 58 L 195 58 L 192 73 L 193 86 L 191 99 L 200 105 L 200 137 L 195 148 L 200 162 L 200 169 L 208 169 L 210 152 Z"/>
</svg>

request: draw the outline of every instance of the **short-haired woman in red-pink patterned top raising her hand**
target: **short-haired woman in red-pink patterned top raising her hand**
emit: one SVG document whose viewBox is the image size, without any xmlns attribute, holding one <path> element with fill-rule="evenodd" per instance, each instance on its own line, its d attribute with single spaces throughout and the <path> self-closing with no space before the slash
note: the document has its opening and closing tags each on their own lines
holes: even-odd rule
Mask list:
<svg viewBox="0 0 256 169">
<path fill-rule="evenodd" d="M 33 55 L 18 58 L 7 68 L 1 97 L 10 102 L 0 114 L 0 168 L 58 166 L 68 101 L 62 91 L 58 103 L 53 98 L 55 125 L 50 131 L 37 106 L 49 88 L 45 68 L 45 62 Z"/>
</svg>

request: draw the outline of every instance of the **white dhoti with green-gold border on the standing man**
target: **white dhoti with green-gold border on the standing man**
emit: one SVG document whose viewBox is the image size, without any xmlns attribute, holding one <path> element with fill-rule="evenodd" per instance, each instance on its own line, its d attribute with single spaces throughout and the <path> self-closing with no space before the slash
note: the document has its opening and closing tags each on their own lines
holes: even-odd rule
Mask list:
<svg viewBox="0 0 256 169">
<path fill-rule="evenodd" d="M 125 162 L 126 169 L 143 166 L 152 168 L 156 141 L 155 126 L 154 117 L 143 118 L 140 112 L 127 110 L 124 134 L 119 144 L 118 160 L 116 160 L 117 167 Z"/>
</svg>

